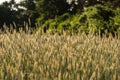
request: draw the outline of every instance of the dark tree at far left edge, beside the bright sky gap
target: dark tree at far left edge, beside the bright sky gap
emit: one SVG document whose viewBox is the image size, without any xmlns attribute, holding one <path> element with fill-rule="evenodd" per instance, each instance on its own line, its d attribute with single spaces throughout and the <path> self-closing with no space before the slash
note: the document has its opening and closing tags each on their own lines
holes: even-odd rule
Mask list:
<svg viewBox="0 0 120 80">
<path fill-rule="evenodd" d="M 14 1 L 14 0 L 12 0 Z M 6 25 L 10 25 L 14 21 L 14 10 L 12 10 L 12 4 L 4 2 L 2 5 L 0 5 L 0 27 L 3 27 L 3 24 L 6 23 Z"/>
</svg>

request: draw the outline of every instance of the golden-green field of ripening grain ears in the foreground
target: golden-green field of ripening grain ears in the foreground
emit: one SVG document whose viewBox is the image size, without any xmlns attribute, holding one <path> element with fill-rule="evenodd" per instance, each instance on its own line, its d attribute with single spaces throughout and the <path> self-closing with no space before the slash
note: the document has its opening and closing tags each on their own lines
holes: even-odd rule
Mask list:
<svg viewBox="0 0 120 80">
<path fill-rule="evenodd" d="M 120 80 L 120 38 L 0 34 L 0 80 Z"/>
</svg>

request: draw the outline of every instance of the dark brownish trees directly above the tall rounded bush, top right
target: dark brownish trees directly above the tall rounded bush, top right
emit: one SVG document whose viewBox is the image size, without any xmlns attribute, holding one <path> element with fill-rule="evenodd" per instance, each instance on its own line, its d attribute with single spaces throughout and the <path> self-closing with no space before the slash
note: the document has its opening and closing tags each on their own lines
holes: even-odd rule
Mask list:
<svg viewBox="0 0 120 80">
<path fill-rule="evenodd" d="M 84 7 L 94 6 L 96 4 L 106 5 L 111 8 L 120 7 L 120 0 L 67 0 L 71 5 L 72 11 L 82 11 Z"/>
</svg>

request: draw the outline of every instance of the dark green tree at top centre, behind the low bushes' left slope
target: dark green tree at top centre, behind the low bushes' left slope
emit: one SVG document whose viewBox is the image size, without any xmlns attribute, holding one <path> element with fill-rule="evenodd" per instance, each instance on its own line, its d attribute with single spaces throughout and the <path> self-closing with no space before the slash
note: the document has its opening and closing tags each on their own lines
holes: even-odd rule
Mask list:
<svg viewBox="0 0 120 80">
<path fill-rule="evenodd" d="M 37 0 L 36 9 L 39 13 L 39 21 L 52 19 L 68 12 L 69 4 L 66 0 Z"/>
</svg>

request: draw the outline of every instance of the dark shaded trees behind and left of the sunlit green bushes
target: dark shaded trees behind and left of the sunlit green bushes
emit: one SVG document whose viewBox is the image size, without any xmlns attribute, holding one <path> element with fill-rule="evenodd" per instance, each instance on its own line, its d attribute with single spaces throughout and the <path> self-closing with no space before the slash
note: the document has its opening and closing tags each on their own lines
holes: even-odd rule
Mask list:
<svg viewBox="0 0 120 80">
<path fill-rule="evenodd" d="M 6 23 L 16 23 L 17 28 L 35 27 L 35 24 L 44 24 L 49 19 L 55 19 L 66 13 L 81 14 L 84 9 L 97 4 L 108 6 L 111 9 L 120 7 L 120 0 L 15 0 L 0 5 L 0 27 Z M 105 14 L 107 15 L 107 14 Z"/>
</svg>

